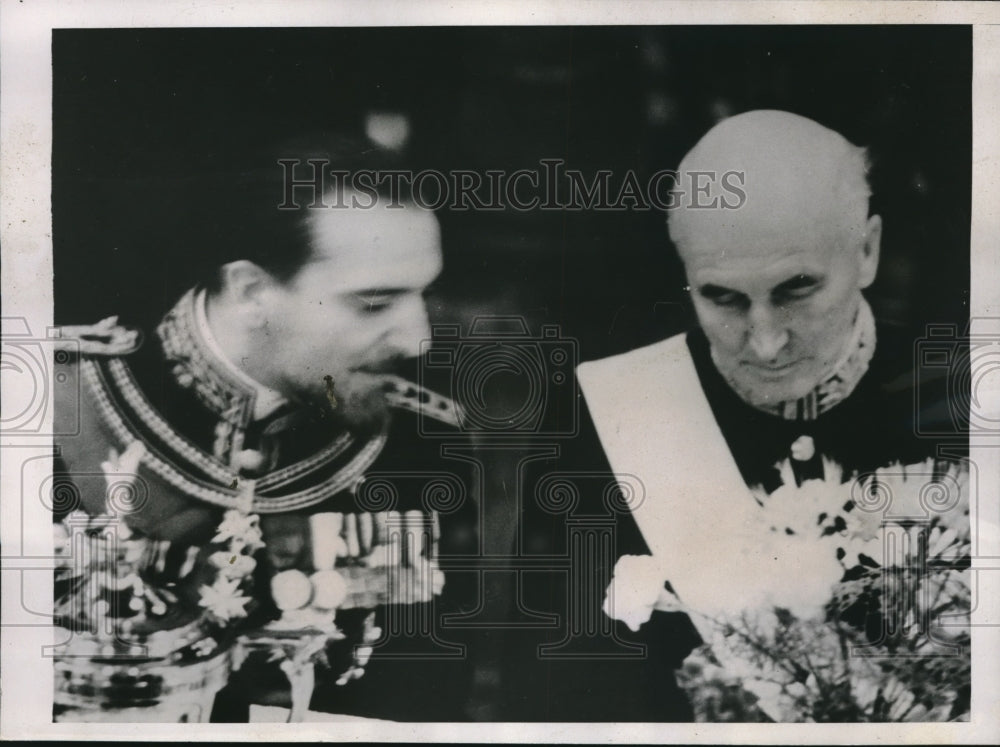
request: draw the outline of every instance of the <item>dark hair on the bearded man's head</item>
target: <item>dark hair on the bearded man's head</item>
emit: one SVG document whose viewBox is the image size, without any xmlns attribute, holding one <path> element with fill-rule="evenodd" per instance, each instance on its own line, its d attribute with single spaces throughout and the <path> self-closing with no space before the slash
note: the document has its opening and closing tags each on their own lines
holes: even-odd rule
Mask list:
<svg viewBox="0 0 1000 747">
<path fill-rule="evenodd" d="M 309 161 L 313 161 L 311 165 Z M 319 175 L 313 169 L 322 169 Z M 314 205 L 311 187 L 294 188 L 318 176 L 327 194 L 338 183 L 350 184 L 360 171 L 403 170 L 404 160 L 364 137 L 342 133 L 318 133 L 287 140 L 262 154 L 248 158 L 246 168 L 216 174 L 202 185 L 206 214 L 201 221 L 198 243 L 207 256 L 203 283 L 218 290 L 221 267 L 249 260 L 282 282 L 291 280 L 312 254 L 307 223 L 310 210 L 336 209 Z M 337 174 L 336 177 L 331 174 Z M 406 180 L 397 180 L 397 193 L 390 194 L 389 180 L 373 182 L 379 200 L 391 197 L 408 202 Z M 330 204 L 332 199 L 327 198 Z"/>
</svg>

